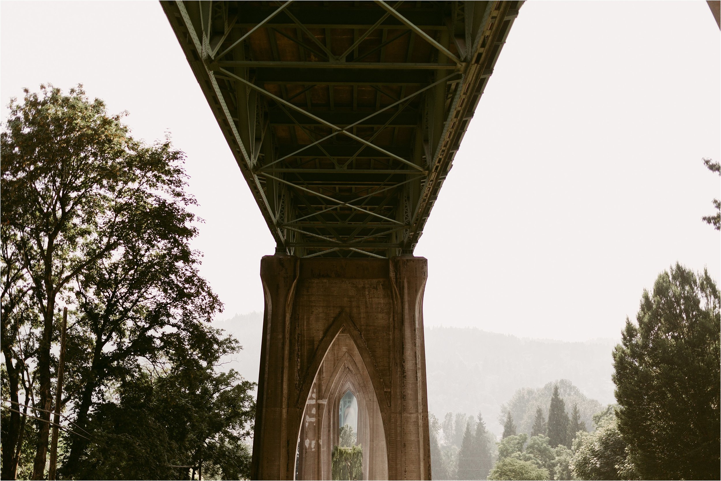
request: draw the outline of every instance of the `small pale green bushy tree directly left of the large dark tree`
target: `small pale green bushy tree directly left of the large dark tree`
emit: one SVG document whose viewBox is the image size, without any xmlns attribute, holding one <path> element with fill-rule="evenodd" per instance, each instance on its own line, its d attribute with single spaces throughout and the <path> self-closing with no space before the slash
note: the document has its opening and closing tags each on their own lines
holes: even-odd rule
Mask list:
<svg viewBox="0 0 721 481">
<path fill-rule="evenodd" d="M 593 433 L 580 431 L 573 441 L 572 474 L 579 480 L 636 480 L 637 473 L 616 425 L 614 406 L 593 416 Z"/>
</svg>

